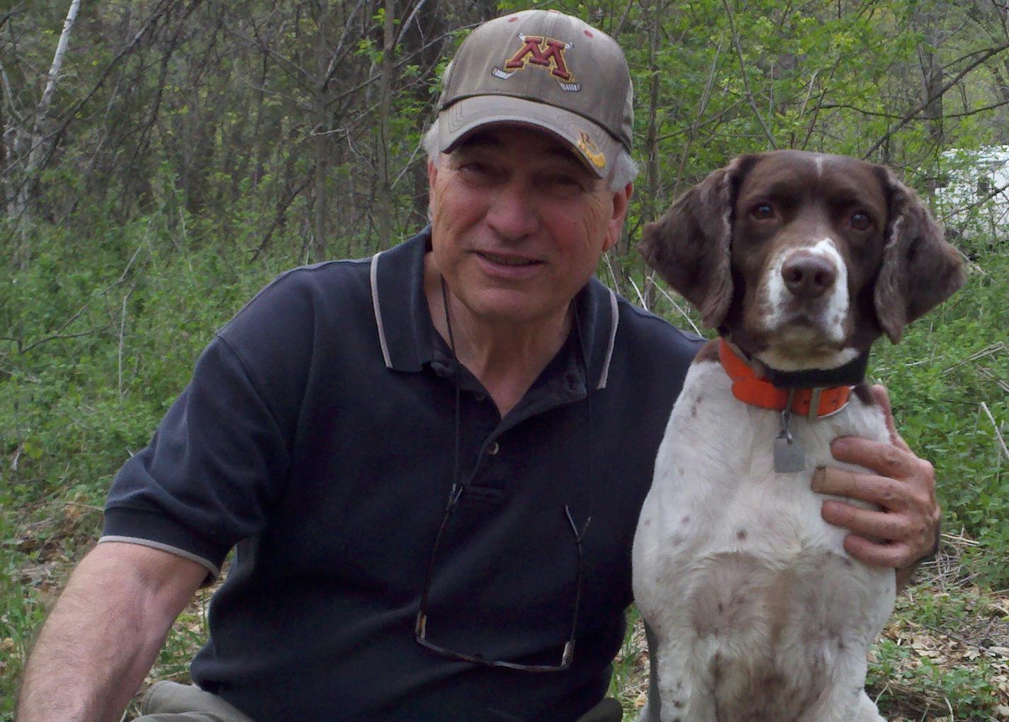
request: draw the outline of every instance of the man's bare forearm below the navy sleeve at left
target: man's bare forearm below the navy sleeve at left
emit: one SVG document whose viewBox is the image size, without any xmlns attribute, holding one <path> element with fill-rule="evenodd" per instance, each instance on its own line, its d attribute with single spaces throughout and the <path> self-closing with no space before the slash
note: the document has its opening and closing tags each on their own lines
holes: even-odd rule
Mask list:
<svg viewBox="0 0 1009 722">
<path fill-rule="evenodd" d="M 206 568 L 167 552 L 98 545 L 38 635 L 18 722 L 116 722 L 206 576 Z"/>
</svg>

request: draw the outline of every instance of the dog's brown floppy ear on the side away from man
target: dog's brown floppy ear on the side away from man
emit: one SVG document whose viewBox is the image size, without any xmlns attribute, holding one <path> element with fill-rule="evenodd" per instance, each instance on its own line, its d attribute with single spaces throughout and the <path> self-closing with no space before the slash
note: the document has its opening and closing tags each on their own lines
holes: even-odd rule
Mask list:
<svg viewBox="0 0 1009 722">
<path fill-rule="evenodd" d="M 964 269 L 960 253 L 918 195 L 889 168 L 877 166 L 877 172 L 889 195 L 889 212 L 874 300 L 880 327 L 897 343 L 907 324 L 964 284 Z"/>
</svg>

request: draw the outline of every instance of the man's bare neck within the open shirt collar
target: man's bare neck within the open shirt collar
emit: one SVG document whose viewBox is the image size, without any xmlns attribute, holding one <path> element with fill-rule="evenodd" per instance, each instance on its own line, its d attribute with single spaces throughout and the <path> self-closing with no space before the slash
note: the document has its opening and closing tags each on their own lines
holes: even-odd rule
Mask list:
<svg viewBox="0 0 1009 722">
<path fill-rule="evenodd" d="M 430 253 L 424 290 L 435 330 L 449 343 L 442 277 Z M 487 389 L 503 417 L 564 345 L 571 331 L 570 308 L 535 321 L 495 323 L 472 314 L 451 289 L 446 295 L 456 358 Z"/>
</svg>

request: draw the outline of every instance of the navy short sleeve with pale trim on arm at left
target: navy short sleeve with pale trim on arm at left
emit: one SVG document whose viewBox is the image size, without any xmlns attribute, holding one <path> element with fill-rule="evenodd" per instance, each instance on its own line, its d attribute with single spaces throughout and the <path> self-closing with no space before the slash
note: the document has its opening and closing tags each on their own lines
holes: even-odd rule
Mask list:
<svg viewBox="0 0 1009 722">
<path fill-rule="evenodd" d="M 288 439 L 239 352 L 216 336 L 150 444 L 116 476 L 101 540 L 173 552 L 216 576 L 265 524 L 288 476 Z"/>
</svg>

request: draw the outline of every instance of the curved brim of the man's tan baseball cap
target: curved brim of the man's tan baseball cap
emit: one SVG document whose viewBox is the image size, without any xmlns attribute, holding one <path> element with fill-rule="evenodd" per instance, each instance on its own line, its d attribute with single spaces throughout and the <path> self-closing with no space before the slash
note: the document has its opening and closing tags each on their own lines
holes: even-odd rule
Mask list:
<svg viewBox="0 0 1009 722">
<path fill-rule="evenodd" d="M 621 144 L 609 133 L 577 113 L 546 103 L 504 95 L 463 98 L 441 112 L 439 147 L 449 152 L 464 137 L 486 125 L 531 125 L 566 141 L 599 177 L 605 177 L 616 160 Z"/>
</svg>

